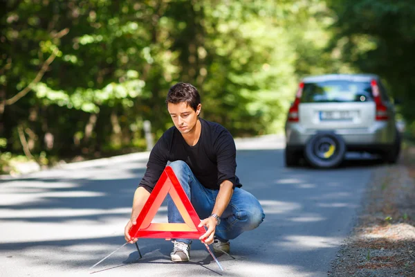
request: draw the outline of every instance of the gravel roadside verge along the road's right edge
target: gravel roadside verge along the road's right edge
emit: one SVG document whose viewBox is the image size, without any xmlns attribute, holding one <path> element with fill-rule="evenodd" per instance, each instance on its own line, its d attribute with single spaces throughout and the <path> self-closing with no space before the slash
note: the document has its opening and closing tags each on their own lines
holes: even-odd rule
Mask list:
<svg viewBox="0 0 415 277">
<path fill-rule="evenodd" d="M 379 166 L 328 276 L 415 276 L 415 148 Z"/>
</svg>

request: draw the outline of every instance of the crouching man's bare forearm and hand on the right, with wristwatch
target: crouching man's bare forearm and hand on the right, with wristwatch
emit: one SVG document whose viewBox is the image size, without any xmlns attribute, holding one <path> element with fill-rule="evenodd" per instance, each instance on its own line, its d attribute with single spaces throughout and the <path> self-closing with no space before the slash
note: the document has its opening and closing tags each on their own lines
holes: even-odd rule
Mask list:
<svg viewBox="0 0 415 277">
<path fill-rule="evenodd" d="M 216 196 L 216 202 L 214 203 L 212 213 L 215 213 L 221 217 L 222 213 L 225 211 L 225 208 L 228 206 L 230 199 L 232 198 L 232 193 L 232 182 L 228 180 L 223 181 L 220 185 L 218 196 Z M 214 240 L 214 231 L 216 230 L 216 218 L 208 217 L 205 220 L 202 220 L 199 227 L 203 225 L 208 227 L 208 231 L 206 231 L 206 233 L 202 235 L 199 240 L 205 240 L 207 244 L 211 244 Z"/>
</svg>

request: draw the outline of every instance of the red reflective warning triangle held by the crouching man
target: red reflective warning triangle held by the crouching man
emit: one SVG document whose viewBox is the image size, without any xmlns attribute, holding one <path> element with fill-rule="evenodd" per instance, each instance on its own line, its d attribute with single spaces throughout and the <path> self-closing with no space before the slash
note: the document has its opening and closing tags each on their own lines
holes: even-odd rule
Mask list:
<svg viewBox="0 0 415 277">
<path fill-rule="evenodd" d="M 167 193 L 172 197 L 185 223 L 151 223 Z M 172 168 L 167 166 L 142 207 L 137 224 L 131 227 L 129 235 L 131 238 L 199 239 L 206 232 L 203 226 L 198 227 L 199 223 L 199 215 L 194 211 L 185 190 Z"/>
</svg>

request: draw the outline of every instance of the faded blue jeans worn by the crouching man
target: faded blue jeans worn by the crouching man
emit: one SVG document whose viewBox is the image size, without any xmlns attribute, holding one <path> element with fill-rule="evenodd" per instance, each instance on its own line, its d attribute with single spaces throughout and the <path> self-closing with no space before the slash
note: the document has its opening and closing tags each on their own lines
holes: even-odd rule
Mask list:
<svg viewBox="0 0 415 277">
<path fill-rule="evenodd" d="M 169 166 L 172 167 L 201 220 L 208 218 L 212 213 L 219 190 L 205 188 L 184 161 L 174 161 Z M 169 223 L 184 223 L 169 194 L 167 194 L 167 216 Z M 234 188 L 228 207 L 221 215 L 221 224 L 216 226 L 215 237 L 221 241 L 237 238 L 244 231 L 257 228 L 264 221 L 264 217 L 264 210 L 253 195 L 242 188 Z M 185 239 L 177 241 L 192 243 L 192 240 Z"/>
</svg>

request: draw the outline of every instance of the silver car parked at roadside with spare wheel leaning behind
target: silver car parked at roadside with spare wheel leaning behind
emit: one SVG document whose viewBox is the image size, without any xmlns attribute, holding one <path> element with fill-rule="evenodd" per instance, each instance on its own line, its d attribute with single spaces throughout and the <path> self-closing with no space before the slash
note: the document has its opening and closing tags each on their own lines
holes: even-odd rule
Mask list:
<svg viewBox="0 0 415 277">
<path fill-rule="evenodd" d="M 304 78 L 285 132 L 286 166 L 296 166 L 304 157 L 312 166 L 331 168 L 347 151 L 380 154 L 395 163 L 400 152 L 394 105 L 372 74 Z"/>
</svg>

